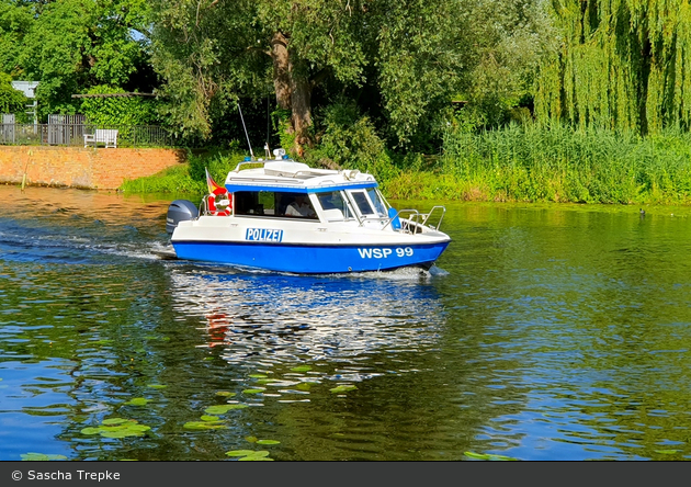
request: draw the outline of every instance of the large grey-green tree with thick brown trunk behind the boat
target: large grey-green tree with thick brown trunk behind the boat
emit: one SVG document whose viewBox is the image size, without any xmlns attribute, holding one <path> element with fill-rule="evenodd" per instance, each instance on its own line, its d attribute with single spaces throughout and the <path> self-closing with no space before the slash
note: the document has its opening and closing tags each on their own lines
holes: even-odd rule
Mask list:
<svg viewBox="0 0 691 487">
<path fill-rule="evenodd" d="M 214 110 L 271 93 L 299 154 L 311 144 L 314 90 L 370 83 L 405 141 L 463 67 L 454 41 L 463 0 L 157 1 L 161 93 L 171 118 L 203 136 Z"/>
</svg>

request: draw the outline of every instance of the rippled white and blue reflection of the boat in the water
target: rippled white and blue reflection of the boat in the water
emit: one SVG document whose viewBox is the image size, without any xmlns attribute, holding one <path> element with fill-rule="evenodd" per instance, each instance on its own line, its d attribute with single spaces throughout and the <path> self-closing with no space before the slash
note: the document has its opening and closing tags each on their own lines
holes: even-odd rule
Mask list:
<svg viewBox="0 0 691 487">
<path fill-rule="evenodd" d="M 204 319 L 204 347 L 253 369 L 417 353 L 437 347 L 444 325 L 437 278 L 417 269 L 359 278 L 188 268 L 171 278 L 178 309 Z"/>
</svg>

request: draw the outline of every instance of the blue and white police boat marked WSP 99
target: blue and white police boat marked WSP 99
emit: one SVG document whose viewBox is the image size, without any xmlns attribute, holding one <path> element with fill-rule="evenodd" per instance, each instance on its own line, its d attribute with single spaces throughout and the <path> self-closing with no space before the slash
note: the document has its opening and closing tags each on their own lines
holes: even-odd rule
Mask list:
<svg viewBox="0 0 691 487">
<path fill-rule="evenodd" d="M 170 204 L 175 258 L 298 274 L 429 269 L 451 241 L 440 231 L 444 206 L 396 209 L 372 174 L 273 156 L 246 158 L 225 185 L 207 171 L 199 207 Z"/>
</svg>

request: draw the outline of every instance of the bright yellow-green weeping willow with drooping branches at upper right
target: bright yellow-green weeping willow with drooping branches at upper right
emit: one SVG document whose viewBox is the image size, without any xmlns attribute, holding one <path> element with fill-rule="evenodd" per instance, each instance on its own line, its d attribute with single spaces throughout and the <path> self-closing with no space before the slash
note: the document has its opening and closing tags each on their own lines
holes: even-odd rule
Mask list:
<svg viewBox="0 0 691 487">
<path fill-rule="evenodd" d="M 542 64 L 539 118 L 655 133 L 691 126 L 688 0 L 552 0 L 558 45 Z"/>
</svg>

